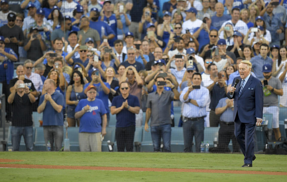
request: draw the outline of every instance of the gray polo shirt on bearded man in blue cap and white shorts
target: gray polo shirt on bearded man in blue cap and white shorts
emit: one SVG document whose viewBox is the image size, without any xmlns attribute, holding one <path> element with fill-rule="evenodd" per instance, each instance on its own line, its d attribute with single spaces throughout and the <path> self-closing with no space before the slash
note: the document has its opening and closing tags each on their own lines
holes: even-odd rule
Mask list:
<svg viewBox="0 0 287 182">
<path fill-rule="evenodd" d="M 281 89 L 282 84 L 280 79 L 276 77 L 271 77 L 268 81 L 268 85 L 275 89 Z M 271 95 L 265 96 L 263 95 L 263 105 L 264 106 L 278 106 L 278 95 L 271 91 Z"/>
</svg>

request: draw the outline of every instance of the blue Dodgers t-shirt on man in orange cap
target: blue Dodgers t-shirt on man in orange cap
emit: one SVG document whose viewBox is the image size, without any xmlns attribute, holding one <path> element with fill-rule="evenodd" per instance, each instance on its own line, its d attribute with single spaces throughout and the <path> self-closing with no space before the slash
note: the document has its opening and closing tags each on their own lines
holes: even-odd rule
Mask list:
<svg viewBox="0 0 287 182">
<path fill-rule="evenodd" d="M 94 101 L 82 99 L 75 108 L 75 113 L 81 111 L 86 105 L 90 106 L 90 110 L 85 112 L 80 118 L 79 132 L 98 133 L 102 131 L 102 116 L 107 113 L 102 100 L 95 98 Z"/>
</svg>

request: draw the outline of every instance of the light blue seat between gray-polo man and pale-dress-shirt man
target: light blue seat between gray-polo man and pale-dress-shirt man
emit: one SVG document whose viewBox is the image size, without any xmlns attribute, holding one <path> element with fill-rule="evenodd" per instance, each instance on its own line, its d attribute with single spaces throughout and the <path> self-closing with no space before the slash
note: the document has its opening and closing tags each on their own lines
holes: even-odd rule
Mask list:
<svg viewBox="0 0 287 182">
<path fill-rule="evenodd" d="M 184 152 L 184 140 L 182 127 L 171 128 L 171 152 Z"/>
</svg>

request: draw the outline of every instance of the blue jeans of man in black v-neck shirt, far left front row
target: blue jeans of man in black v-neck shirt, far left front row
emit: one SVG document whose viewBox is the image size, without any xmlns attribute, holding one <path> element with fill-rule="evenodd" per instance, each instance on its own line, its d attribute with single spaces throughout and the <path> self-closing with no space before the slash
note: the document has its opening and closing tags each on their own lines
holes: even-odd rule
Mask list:
<svg viewBox="0 0 287 182">
<path fill-rule="evenodd" d="M 33 151 L 33 126 L 12 126 L 11 139 L 14 151 L 19 151 L 21 137 L 24 137 L 26 150 Z"/>
</svg>

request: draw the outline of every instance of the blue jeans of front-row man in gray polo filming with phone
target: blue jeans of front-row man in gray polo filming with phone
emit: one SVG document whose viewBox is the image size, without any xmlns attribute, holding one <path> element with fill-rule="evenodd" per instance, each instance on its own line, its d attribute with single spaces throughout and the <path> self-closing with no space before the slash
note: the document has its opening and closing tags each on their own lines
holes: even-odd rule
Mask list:
<svg viewBox="0 0 287 182">
<path fill-rule="evenodd" d="M 155 152 L 161 151 L 161 138 L 162 138 L 164 143 L 163 152 L 171 152 L 170 151 L 171 125 L 164 124 L 159 126 L 151 126 L 150 131 L 152 134 L 153 150 Z"/>
</svg>

